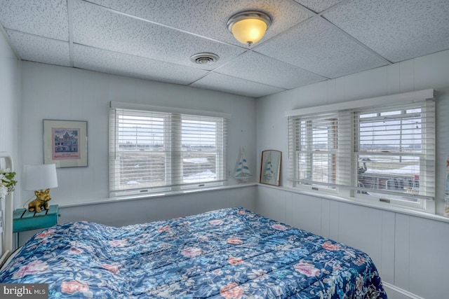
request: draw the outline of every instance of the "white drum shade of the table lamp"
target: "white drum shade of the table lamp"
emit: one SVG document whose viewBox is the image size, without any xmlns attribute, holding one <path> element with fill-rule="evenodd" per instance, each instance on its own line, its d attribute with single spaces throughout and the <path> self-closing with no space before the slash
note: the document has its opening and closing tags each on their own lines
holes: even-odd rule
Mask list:
<svg viewBox="0 0 449 299">
<path fill-rule="evenodd" d="M 25 190 L 58 187 L 55 164 L 25 165 Z"/>
</svg>

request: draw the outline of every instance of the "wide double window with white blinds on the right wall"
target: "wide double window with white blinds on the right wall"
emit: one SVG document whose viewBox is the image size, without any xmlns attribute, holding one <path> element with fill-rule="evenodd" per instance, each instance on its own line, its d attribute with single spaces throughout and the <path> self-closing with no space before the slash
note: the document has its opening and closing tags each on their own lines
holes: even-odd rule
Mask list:
<svg viewBox="0 0 449 299">
<path fill-rule="evenodd" d="M 435 104 L 422 92 L 287 113 L 293 186 L 431 211 Z"/>
</svg>

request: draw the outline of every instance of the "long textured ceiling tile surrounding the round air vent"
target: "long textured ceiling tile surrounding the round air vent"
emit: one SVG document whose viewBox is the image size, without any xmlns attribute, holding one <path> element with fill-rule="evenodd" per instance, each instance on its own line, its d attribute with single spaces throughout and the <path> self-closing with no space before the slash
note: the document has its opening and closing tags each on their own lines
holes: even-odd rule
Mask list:
<svg viewBox="0 0 449 299">
<path fill-rule="evenodd" d="M 86 2 L 76 1 L 73 15 L 74 43 L 85 46 L 201 69 L 214 69 L 244 51 L 243 48 L 130 18 Z M 192 55 L 202 52 L 215 53 L 220 60 L 207 65 L 189 60 Z"/>
</svg>

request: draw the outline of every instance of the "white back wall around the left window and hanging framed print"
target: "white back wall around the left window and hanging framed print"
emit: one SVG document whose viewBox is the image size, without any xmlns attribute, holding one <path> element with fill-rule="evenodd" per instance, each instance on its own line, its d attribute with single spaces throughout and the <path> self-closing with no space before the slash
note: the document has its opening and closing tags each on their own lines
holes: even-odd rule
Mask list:
<svg viewBox="0 0 449 299">
<path fill-rule="evenodd" d="M 107 199 L 110 101 L 229 113 L 228 169 L 232 172 L 236 165 L 239 146 L 246 148 L 250 165 L 256 165 L 253 98 L 22 62 L 22 165 L 43 163 L 43 119 L 88 121 L 88 167 L 57 170 L 59 186 L 51 190 L 52 204 Z M 22 193 L 22 202 L 33 196 Z"/>
</svg>

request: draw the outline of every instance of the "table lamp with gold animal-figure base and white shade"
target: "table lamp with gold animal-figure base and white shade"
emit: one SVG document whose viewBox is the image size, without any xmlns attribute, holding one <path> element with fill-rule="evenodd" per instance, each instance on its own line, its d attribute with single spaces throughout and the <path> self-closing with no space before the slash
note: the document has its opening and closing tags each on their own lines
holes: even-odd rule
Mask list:
<svg viewBox="0 0 449 299">
<path fill-rule="evenodd" d="M 29 211 L 48 209 L 50 188 L 58 187 L 55 164 L 25 165 L 25 190 L 34 190 L 36 199 L 28 204 Z"/>
</svg>

